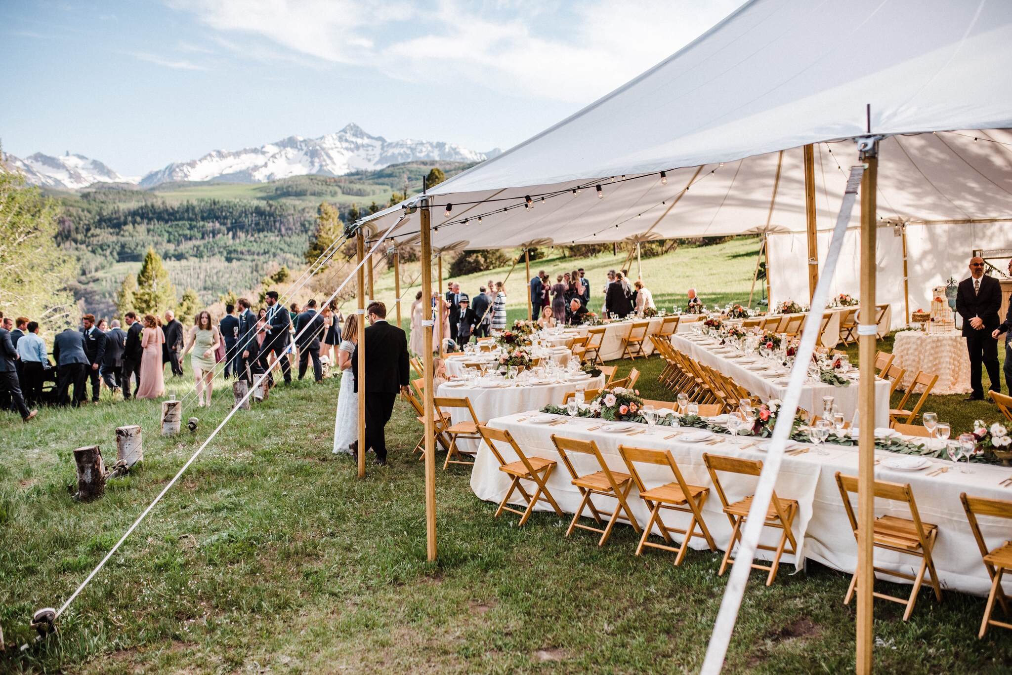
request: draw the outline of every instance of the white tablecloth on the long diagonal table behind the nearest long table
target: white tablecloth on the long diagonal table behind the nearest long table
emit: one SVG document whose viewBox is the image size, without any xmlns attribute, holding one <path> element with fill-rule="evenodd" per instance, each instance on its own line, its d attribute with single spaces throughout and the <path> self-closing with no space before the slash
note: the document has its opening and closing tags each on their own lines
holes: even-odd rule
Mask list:
<svg viewBox="0 0 1012 675">
<path fill-rule="evenodd" d="M 675 349 L 678 349 L 683 354 L 720 370 L 764 401 L 768 399 L 783 400 L 786 398 L 787 386 L 774 384 L 770 378 L 767 378 L 768 375 L 765 375 L 765 373 L 748 370 L 736 360 L 714 354 L 705 346 L 680 335 L 673 335 L 671 343 Z M 786 374 L 782 375 L 782 377 L 787 376 Z M 875 378 L 875 426 L 889 426 L 889 390 L 890 383 L 888 381 Z M 846 419 L 853 419 L 854 413 L 857 411 L 857 382 L 851 383 L 850 387 L 834 387 L 833 385 L 825 385 L 823 383 L 806 385 L 802 389 L 802 398 L 797 405 L 810 413 L 822 415 L 822 400 L 824 396 L 834 397 L 836 405 L 840 407 L 840 412 L 844 414 Z"/>
</svg>

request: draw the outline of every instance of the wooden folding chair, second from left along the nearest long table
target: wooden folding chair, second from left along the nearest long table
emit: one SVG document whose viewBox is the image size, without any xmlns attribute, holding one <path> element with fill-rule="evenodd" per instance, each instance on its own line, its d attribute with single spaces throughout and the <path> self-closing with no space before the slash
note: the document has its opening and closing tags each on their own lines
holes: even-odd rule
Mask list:
<svg viewBox="0 0 1012 675">
<path fill-rule="evenodd" d="M 573 477 L 572 484 L 575 485 L 577 489 L 580 490 L 580 494 L 583 495 L 583 499 L 580 501 L 580 508 L 576 510 L 576 515 L 573 516 L 573 521 L 570 523 L 569 529 L 566 530 L 566 536 L 572 534 L 573 530 L 577 527 L 580 527 L 581 529 L 589 529 L 592 532 L 601 533 L 601 538 L 598 540 L 597 545 L 603 546 L 608 542 L 608 537 L 611 536 L 611 528 L 615 526 L 615 521 L 619 518 L 628 521 L 628 523 L 632 525 L 632 529 L 639 534 L 640 523 L 637 522 L 636 516 L 632 515 L 632 511 L 629 509 L 628 503 L 625 501 L 628 497 L 629 491 L 632 489 L 632 477 L 628 474 L 613 472 L 608 469 L 608 465 L 604 461 L 604 457 L 601 456 L 601 451 L 597 448 L 597 443 L 592 440 L 563 438 L 561 436 L 557 436 L 556 434 L 552 434 L 552 442 L 556 444 L 556 449 L 559 450 L 559 456 L 563 458 L 563 463 L 566 465 L 566 469 L 569 470 L 570 476 Z M 570 460 L 570 456 L 567 452 L 579 452 L 597 457 L 597 463 L 601 467 L 601 471 L 580 476 L 573 467 L 573 462 Z M 594 502 L 591 499 L 594 495 L 599 495 L 601 497 L 613 497 L 618 500 L 618 503 L 615 505 L 614 510 L 611 513 L 599 511 L 597 507 L 594 506 Z M 611 516 L 604 529 L 594 527 L 592 525 L 584 525 L 580 522 L 580 516 L 583 514 L 583 510 L 588 506 L 590 507 L 590 513 L 593 516 L 594 521 L 598 525 L 604 525 L 604 521 L 601 519 L 602 515 Z M 622 511 L 625 512 L 625 515 L 621 515 Z"/>
</svg>

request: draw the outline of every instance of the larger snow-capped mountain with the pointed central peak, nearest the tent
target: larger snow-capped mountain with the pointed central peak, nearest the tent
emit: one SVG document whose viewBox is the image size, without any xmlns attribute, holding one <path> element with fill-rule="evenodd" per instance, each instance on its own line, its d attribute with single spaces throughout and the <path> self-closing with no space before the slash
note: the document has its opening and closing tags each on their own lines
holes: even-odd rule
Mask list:
<svg viewBox="0 0 1012 675">
<path fill-rule="evenodd" d="M 259 148 L 235 152 L 216 150 L 200 159 L 176 162 L 152 171 L 141 180 L 141 185 L 150 187 L 176 180 L 260 183 L 305 174 L 340 176 L 420 160 L 481 162 L 485 159 L 485 153 L 451 143 L 411 139 L 387 141 L 351 123 L 336 134 L 319 139 L 291 136 Z"/>
</svg>

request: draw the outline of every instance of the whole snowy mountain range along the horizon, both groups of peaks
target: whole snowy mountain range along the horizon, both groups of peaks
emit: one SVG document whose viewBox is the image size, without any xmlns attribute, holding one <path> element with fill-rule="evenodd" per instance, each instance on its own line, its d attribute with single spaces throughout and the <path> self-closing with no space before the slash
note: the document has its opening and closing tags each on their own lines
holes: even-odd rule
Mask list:
<svg viewBox="0 0 1012 675">
<path fill-rule="evenodd" d="M 262 183 L 307 174 L 341 176 L 413 161 L 482 162 L 499 153 L 498 148 L 482 153 L 443 142 L 387 141 L 350 123 L 318 139 L 290 136 L 258 148 L 215 150 L 199 159 L 173 162 L 140 179 L 123 177 L 98 160 L 70 152 L 60 157 L 35 153 L 23 160 L 4 154 L 2 164 L 24 173 L 30 184 L 77 190 L 96 182 L 140 183 L 142 187 L 176 181 Z"/>
</svg>

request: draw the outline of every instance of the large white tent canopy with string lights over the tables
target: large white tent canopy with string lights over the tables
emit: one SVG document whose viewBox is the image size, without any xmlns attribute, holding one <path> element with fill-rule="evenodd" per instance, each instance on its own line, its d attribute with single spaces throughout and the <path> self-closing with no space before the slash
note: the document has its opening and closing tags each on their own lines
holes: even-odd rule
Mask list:
<svg viewBox="0 0 1012 675">
<path fill-rule="evenodd" d="M 573 116 L 435 186 L 433 245 L 728 235 L 767 223 L 804 231 L 807 143 L 817 144 L 818 218 L 828 228 L 856 159 L 840 139 L 868 125 L 940 132 L 882 144 L 880 216 L 1008 219 L 1012 136 L 994 130 L 1012 126 L 1009 72 L 1012 3 L 755 0 Z M 382 229 L 401 213 L 368 220 Z M 417 218 L 394 236 L 417 233 Z"/>
</svg>

